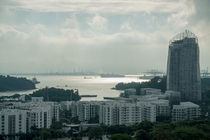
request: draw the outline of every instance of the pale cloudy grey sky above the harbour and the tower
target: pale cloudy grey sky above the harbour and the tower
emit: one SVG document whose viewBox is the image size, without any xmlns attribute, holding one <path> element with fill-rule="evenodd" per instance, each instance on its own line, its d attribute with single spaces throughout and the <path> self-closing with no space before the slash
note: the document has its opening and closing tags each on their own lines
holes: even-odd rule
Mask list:
<svg viewBox="0 0 210 140">
<path fill-rule="evenodd" d="M 210 0 L 0 0 L 0 73 L 166 71 L 189 29 L 210 68 Z"/>
</svg>

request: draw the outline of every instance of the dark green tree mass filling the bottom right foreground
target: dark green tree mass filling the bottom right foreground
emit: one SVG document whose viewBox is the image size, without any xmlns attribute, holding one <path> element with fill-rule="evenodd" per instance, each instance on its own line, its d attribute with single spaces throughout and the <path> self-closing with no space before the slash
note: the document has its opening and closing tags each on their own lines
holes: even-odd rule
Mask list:
<svg viewBox="0 0 210 140">
<path fill-rule="evenodd" d="M 206 118 L 180 122 L 144 121 L 133 126 L 100 126 L 86 133 L 90 139 L 107 135 L 110 140 L 208 140 L 209 131 L 210 120 Z"/>
</svg>

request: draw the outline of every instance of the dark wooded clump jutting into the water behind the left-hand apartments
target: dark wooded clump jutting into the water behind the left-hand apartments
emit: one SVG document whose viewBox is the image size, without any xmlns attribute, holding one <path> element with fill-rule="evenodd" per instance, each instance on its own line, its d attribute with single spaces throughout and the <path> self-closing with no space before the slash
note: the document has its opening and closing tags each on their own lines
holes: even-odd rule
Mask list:
<svg viewBox="0 0 210 140">
<path fill-rule="evenodd" d="M 38 91 L 34 91 L 31 94 L 32 97 L 44 97 L 44 101 L 78 101 L 80 96 L 78 90 L 65 90 L 58 88 L 43 88 Z"/>
</svg>

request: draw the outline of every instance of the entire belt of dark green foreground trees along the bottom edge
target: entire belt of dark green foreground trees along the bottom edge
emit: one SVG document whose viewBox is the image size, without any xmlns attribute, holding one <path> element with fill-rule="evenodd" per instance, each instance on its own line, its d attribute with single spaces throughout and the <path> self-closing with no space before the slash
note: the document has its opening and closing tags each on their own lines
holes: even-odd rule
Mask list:
<svg viewBox="0 0 210 140">
<path fill-rule="evenodd" d="M 133 126 L 97 126 L 77 134 L 76 138 L 88 136 L 90 140 L 101 139 L 103 135 L 110 140 L 209 140 L 210 119 L 186 120 L 179 122 L 144 121 Z M 50 128 L 33 127 L 31 133 L 18 134 L 20 140 L 49 140 L 64 137 L 75 137 L 64 132 L 60 122 L 54 122 Z M 0 139 L 4 136 L 0 136 Z"/>
</svg>

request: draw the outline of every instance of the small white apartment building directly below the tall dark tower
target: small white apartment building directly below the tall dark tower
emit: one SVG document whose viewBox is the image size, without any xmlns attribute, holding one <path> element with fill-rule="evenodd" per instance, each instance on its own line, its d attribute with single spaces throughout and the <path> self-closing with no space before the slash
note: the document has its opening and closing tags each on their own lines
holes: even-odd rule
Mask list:
<svg viewBox="0 0 210 140">
<path fill-rule="evenodd" d="M 192 102 L 181 102 L 180 105 L 173 105 L 172 120 L 192 120 L 200 116 L 200 107 Z"/>
</svg>

